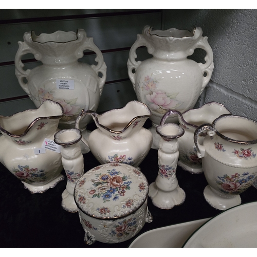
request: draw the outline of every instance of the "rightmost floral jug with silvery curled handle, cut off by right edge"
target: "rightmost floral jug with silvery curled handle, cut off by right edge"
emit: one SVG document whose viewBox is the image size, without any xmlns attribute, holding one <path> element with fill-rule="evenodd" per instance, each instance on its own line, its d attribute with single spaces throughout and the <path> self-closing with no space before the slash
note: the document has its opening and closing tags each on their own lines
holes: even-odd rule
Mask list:
<svg viewBox="0 0 257 257">
<path fill-rule="evenodd" d="M 200 144 L 202 133 L 206 136 Z M 239 194 L 257 178 L 257 122 L 224 114 L 212 124 L 200 125 L 194 141 L 208 182 L 204 190 L 206 201 L 218 210 L 240 205 Z"/>
</svg>

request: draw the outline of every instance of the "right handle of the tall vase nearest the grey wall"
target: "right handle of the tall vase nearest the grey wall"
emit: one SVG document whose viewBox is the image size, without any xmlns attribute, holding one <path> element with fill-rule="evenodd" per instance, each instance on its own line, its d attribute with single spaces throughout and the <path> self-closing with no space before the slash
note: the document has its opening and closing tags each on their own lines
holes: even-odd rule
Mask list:
<svg viewBox="0 0 257 257">
<path fill-rule="evenodd" d="M 203 84 L 201 85 L 201 91 L 200 94 L 203 93 L 203 90 L 207 86 L 208 82 L 211 79 L 212 71 L 214 69 L 214 64 L 213 64 L 213 51 L 211 49 L 211 46 L 208 43 L 208 37 L 207 36 L 202 36 L 194 46 L 194 49 L 196 48 L 201 48 L 206 51 L 206 56 L 205 56 L 205 64 L 199 63 L 199 67 L 204 74 L 206 73 L 206 77 L 204 77 Z M 194 50 L 193 49 L 193 50 Z"/>
</svg>

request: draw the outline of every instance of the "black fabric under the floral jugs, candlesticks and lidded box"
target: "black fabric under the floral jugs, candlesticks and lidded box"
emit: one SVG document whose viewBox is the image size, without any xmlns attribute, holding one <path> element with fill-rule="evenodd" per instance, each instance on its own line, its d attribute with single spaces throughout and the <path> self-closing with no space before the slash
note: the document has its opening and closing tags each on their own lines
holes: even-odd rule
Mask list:
<svg viewBox="0 0 257 257">
<path fill-rule="evenodd" d="M 150 125 L 150 121 L 145 123 L 145 127 Z M 90 123 L 88 129 L 95 129 L 94 124 Z M 84 164 L 86 172 L 100 163 L 89 152 L 84 155 Z M 139 167 L 149 184 L 155 181 L 158 174 L 157 150 L 151 149 Z M 88 246 L 84 243 L 78 212 L 69 213 L 61 207 L 66 176 L 56 187 L 42 194 L 31 194 L 2 163 L 0 172 L 0 247 L 128 247 L 136 238 L 118 244 L 96 242 Z M 65 175 L 64 171 L 62 173 Z M 203 191 L 208 183 L 203 173 L 191 174 L 177 167 L 176 176 L 179 186 L 186 192 L 185 202 L 171 210 L 162 210 L 155 207 L 149 198 L 148 206 L 154 219 L 152 223 L 145 223 L 137 236 L 151 229 L 213 217 L 222 212 L 212 208 L 204 199 Z M 241 198 L 242 203 L 257 201 L 257 189 L 250 187 L 241 194 Z"/>
</svg>

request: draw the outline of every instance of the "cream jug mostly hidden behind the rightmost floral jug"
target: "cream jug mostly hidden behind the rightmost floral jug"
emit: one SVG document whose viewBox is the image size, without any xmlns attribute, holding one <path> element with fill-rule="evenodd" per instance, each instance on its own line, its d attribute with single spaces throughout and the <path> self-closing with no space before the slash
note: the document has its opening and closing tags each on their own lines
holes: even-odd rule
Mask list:
<svg viewBox="0 0 257 257">
<path fill-rule="evenodd" d="M 180 113 L 175 109 L 168 111 L 161 120 L 161 125 L 170 116 L 178 117 L 179 126 L 184 128 L 185 134 L 178 138 L 179 142 L 179 161 L 178 166 L 183 170 L 189 171 L 192 174 L 203 172 L 201 158 L 197 156 L 197 150 L 194 143 L 194 132 L 196 128 L 204 123 L 212 123 L 212 121 L 222 114 L 230 114 L 228 109 L 217 102 L 209 102 L 200 108 L 190 109 L 184 113 Z M 203 141 L 203 137 L 199 137 L 199 141 Z"/>
</svg>

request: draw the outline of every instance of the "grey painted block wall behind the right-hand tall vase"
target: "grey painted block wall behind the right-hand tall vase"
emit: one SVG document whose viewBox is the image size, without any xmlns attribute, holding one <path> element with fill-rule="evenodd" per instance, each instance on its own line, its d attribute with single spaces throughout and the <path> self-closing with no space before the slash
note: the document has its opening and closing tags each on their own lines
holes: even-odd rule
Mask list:
<svg viewBox="0 0 257 257">
<path fill-rule="evenodd" d="M 224 104 L 233 114 L 257 120 L 257 10 L 164 10 L 162 29 L 203 29 L 213 50 L 214 70 L 199 105 Z"/>
</svg>

